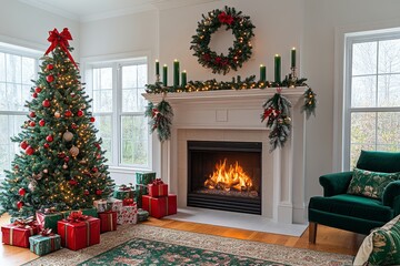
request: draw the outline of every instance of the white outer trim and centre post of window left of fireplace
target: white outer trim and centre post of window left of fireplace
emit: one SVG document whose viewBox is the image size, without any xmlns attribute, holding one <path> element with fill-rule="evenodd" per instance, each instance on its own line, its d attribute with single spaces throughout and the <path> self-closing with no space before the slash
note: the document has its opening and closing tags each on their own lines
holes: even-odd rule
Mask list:
<svg viewBox="0 0 400 266">
<path fill-rule="evenodd" d="M 130 63 L 130 62 L 134 62 L 138 61 L 137 59 L 140 59 L 142 61 L 147 61 L 148 64 L 148 80 L 151 80 L 151 76 L 154 74 L 153 70 L 151 68 L 151 62 L 154 61 L 151 58 L 151 53 L 150 51 L 137 51 L 137 52 L 131 52 L 131 53 L 118 53 L 118 54 L 109 54 L 109 55 L 99 55 L 99 57 L 87 57 L 87 58 L 82 58 L 81 59 L 81 76 L 82 76 L 82 82 L 86 83 L 88 88 L 91 88 L 91 81 L 88 80 L 87 78 L 89 76 L 88 73 L 90 71 L 88 71 L 91 68 L 97 68 L 97 66 L 113 66 L 116 64 L 119 64 L 120 66 Z M 117 63 L 116 63 L 117 62 Z M 113 68 L 116 69 L 116 71 L 119 71 L 120 68 Z M 117 75 L 116 75 L 117 74 Z M 113 76 L 118 76 L 118 79 L 113 79 L 113 88 L 119 88 L 117 82 L 121 82 L 119 81 L 119 79 L 121 78 L 121 75 L 119 75 L 118 73 L 113 73 Z M 119 164 L 120 163 L 120 142 L 118 140 L 118 137 L 120 136 L 120 126 L 118 126 L 118 120 L 120 120 L 120 115 L 123 114 L 122 112 L 117 112 L 117 109 L 121 108 L 121 98 L 117 96 L 117 93 L 121 93 L 118 92 L 117 90 L 112 91 L 112 96 L 113 99 L 117 99 L 117 101 L 119 101 L 117 104 L 113 104 L 113 110 L 112 110 L 112 124 L 113 124 L 113 146 L 112 149 L 114 149 L 114 151 L 118 152 L 113 152 L 112 154 L 112 160 L 113 162 L 116 162 L 113 165 L 109 166 L 110 172 L 112 173 L 121 173 L 121 174 L 133 174 L 138 171 L 152 171 L 154 168 L 154 162 L 157 162 L 157 156 L 156 153 L 159 149 L 153 146 L 154 143 L 154 137 L 149 136 L 149 165 L 147 167 L 143 166 L 139 166 L 139 165 L 123 165 L 123 164 Z M 121 111 L 121 110 L 119 110 Z M 100 112 L 101 113 L 101 112 Z M 127 112 L 128 114 L 128 112 Z M 120 121 L 119 121 L 120 122 Z M 156 160 L 154 160 L 156 158 Z"/>
</svg>

